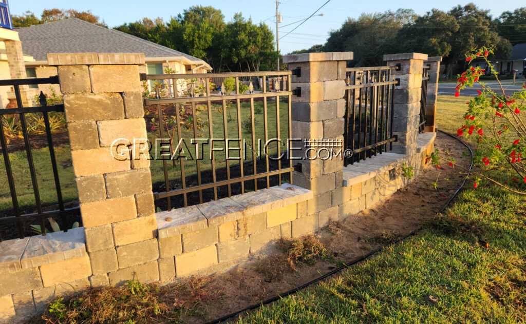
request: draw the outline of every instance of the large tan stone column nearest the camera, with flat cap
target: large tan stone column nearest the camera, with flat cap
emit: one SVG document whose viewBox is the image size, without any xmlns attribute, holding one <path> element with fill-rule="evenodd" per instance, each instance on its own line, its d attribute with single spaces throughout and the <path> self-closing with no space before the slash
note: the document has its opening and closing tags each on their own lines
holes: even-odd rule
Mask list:
<svg viewBox="0 0 526 324">
<path fill-rule="evenodd" d="M 134 276 L 158 280 L 149 161 L 144 154 L 143 160 L 131 160 L 128 151 L 134 139 L 146 139 L 139 80 L 144 54 L 48 54 L 47 59 L 57 66 L 64 93 L 90 283 L 119 285 Z M 121 138 L 123 146 L 115 149 L 112 143 Z"/>
</svg>

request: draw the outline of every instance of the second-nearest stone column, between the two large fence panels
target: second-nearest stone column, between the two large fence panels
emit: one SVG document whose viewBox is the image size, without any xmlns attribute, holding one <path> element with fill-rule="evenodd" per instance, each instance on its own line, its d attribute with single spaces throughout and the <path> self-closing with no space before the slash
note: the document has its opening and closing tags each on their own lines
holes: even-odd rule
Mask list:
<svg viewBox="0 0 526 324">
<path fill-rule="evenodd" d="M 338 219 L 338 203 L 333 203 L 333 195 L 342 187 L 342 155 L 323 160 L 327 150 L 343 151 L 343 132 L 345 113 L 345 76 L 347 60 L 352 60 L 352 52 L 341 53 L 305 53 L 286 55 L 283 62 L 288 63 L 289 70 L 300 68 L 300 76 L 292 76 L 292 89 L 301 88 L 301 96 L 292 96 L 292 138 L 301 139 L 301 151 L 295 156 L 305 158 L 308 148 L 305 141 L 325 140 L 308 156 L 313 160 L 295 160 L 293 165 L 300 164 L 301 172 L 294 172 L 293 183 L 313 191 L 314 197 L 307 201 L 305 218 L 292 222 L 292 234 L 299 236 L 304 231 L 295 231 L 295 226 L 308 228 L 310 232 L 317 227 L 327 225 L 329 218 Z M 338 143 L 339 147 L 332 147 Z M 313 143 L 316 145 L 316 143 Z M 299 147 L 295 143 L 294 147 Z M 315 151 L 323 150 L 322 156 L 315 156 Z M 295 224 L 296 222 L 296 224 Z M 306 223 L 310 224 L 305 226 Z"/>
</svg>

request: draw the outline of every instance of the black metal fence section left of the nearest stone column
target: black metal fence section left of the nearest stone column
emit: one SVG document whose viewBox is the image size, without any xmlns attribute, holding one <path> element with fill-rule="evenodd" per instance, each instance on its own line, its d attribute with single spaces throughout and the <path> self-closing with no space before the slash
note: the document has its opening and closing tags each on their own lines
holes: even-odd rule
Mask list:
<svg viewBox="0 0 526 324">
<path fill-rule="evenodd" d="M 58 77 L 49 77 L 49 78 L 32 78 L 32 79 L 12 79 L 12 80 L 0 80 L 0 86 L 12 86 L 16 96 L 17 108 L 5 108 L 0 109 L 0 145 L 2 145 L 2 158 L 5 165 L 7 183 L 9 186 L 9 194 L 11 195 L 12 207 L 11 215 L 0 216 L 0 241 L 5 239 L 2 233 L 7 234 L 9 237 L 19 237 L 24 238 L 27 234 L 28 227 L 26 226 L 28 222 L 36 222 L 41 228 L 42 235 L 46 235 L 46 224 L 45 221 L 48 218 L 53 220 L 58 220 L 58 224 L 64 231 L 67 231 L 67 222 L 66 217 L 70 215 L 78 216 L 80 214 L 78 206 L 73 208 L 66 208 L 65 202 L 62 197 L 62 190 L 60 189 L 60 181 L 58 176 L 57 161 L 55 157 L 52 131 L 50 129 L 49 116 L 50 112 L 64 112 L 64 104 L 54 104 L 53 106 L 47 106 L 47 101 L 45 95 L 41 92 L 39 96 L 40 107 L 23 107 L 23 100 L 21 97 L 21 86 L 24 85 L 42 85 L 42 84 L 58 84 Z M 41 193 L 39 191 L 37 173 L 43 170 L 36 170 L 35 163 L 33 159 L 33 152 L 31 148 L 31 143 L 28 135 L 28 124 L 26 121 L 26 114 L 42 114 L 44 125 L 45 125 L 45 134 L 47 147 L 49 149 L 49 156 L 51 162 L 51 168 L 53 171 L 53 181 L 55 184 L 56 190 L 56 203 L 43 205 L 41 200 Z M 27 158 L 27 167 L 29 169 L 29 175 L 31 176 L 31 185 L 33 189 L 33 194 L 35 198 L 35 206 L 31 209 L 36 212 L 26 213 L 24 210 L 27 208 L 22 208 L 19 204 L 16 185 L 15 182 L 21 181 L 21 179 L 15 179 L 13 176 L 12 163 L 9 158 L 7 137 L 4 133 L 5 121 L 7 119 L 14 120 L 21 129 L 22 137 L 24 140 L 25 153 Z M 7 129 L 7 128 L 6 128 Z M 49 206 L 52 206 L 53 210 L 44 210 L 50 209 Z M 54 208 L 57 206 L 57 208 Z M 46 208 L 44 208 L 46 207 Z M 7 228 L 7 229 L 6 229 Z M 16 234 L 15 234 L 16 233 Z"/>
</svg>

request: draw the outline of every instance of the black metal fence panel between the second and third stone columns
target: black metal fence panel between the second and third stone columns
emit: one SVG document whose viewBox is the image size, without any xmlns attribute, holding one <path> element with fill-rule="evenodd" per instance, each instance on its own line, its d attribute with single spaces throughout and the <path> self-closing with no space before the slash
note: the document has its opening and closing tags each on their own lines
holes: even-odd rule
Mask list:
<svg viewBox="0 0 526 324">
<path fill-rule="evenodd" d="M 395 67 L 347 68 L 345 149 L 352 156 L 344 165 L 365 160 L 392 149 L 393 135 L 393 78 Z"/>
</svg>

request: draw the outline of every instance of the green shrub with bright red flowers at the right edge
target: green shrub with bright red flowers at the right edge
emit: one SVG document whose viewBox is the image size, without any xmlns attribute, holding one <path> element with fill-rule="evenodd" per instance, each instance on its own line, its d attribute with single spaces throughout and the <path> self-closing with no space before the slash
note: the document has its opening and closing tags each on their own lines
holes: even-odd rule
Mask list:
<svg viewBox="0 0 526 324">
<path fill-rule="evenodd" d="M 498 72 L 488 60 L 490 54 L 493 54 L 492 47 L 473 51 L 466 58 L 469 62 L 468 69 L 459 75 L 455 97 L 459 97 L 463 89 L 473 87 L 475 83 L 480 86 L 480 90 L 477 90 L 478 96 L 466 102 L 468 109 L 457 135 L 476 139 L 473 162 L 479 164 L 480 168 L 472 172 L 474 189 L 485 179 L 513 192 L 526 194 L 526 165 L 522 161 L 526 153 L 526 84 L 513 94 L 505 93 Z M 495 76 L 498 83 L 498 91 L 479 80 L 486 71 L 472 66 L 476 58 L 483 59 L 487 64 L 488 72 Z M 428 159 L 437 166 L 441 161 L 453 168 L 458 166 L 454 160 L 438 156 L 438 152 L 428 156 Z M 495 170 L 499 172 L 494 172 Z M 503 178 L 508 175 L 510 179 Z"/>
</svg>

